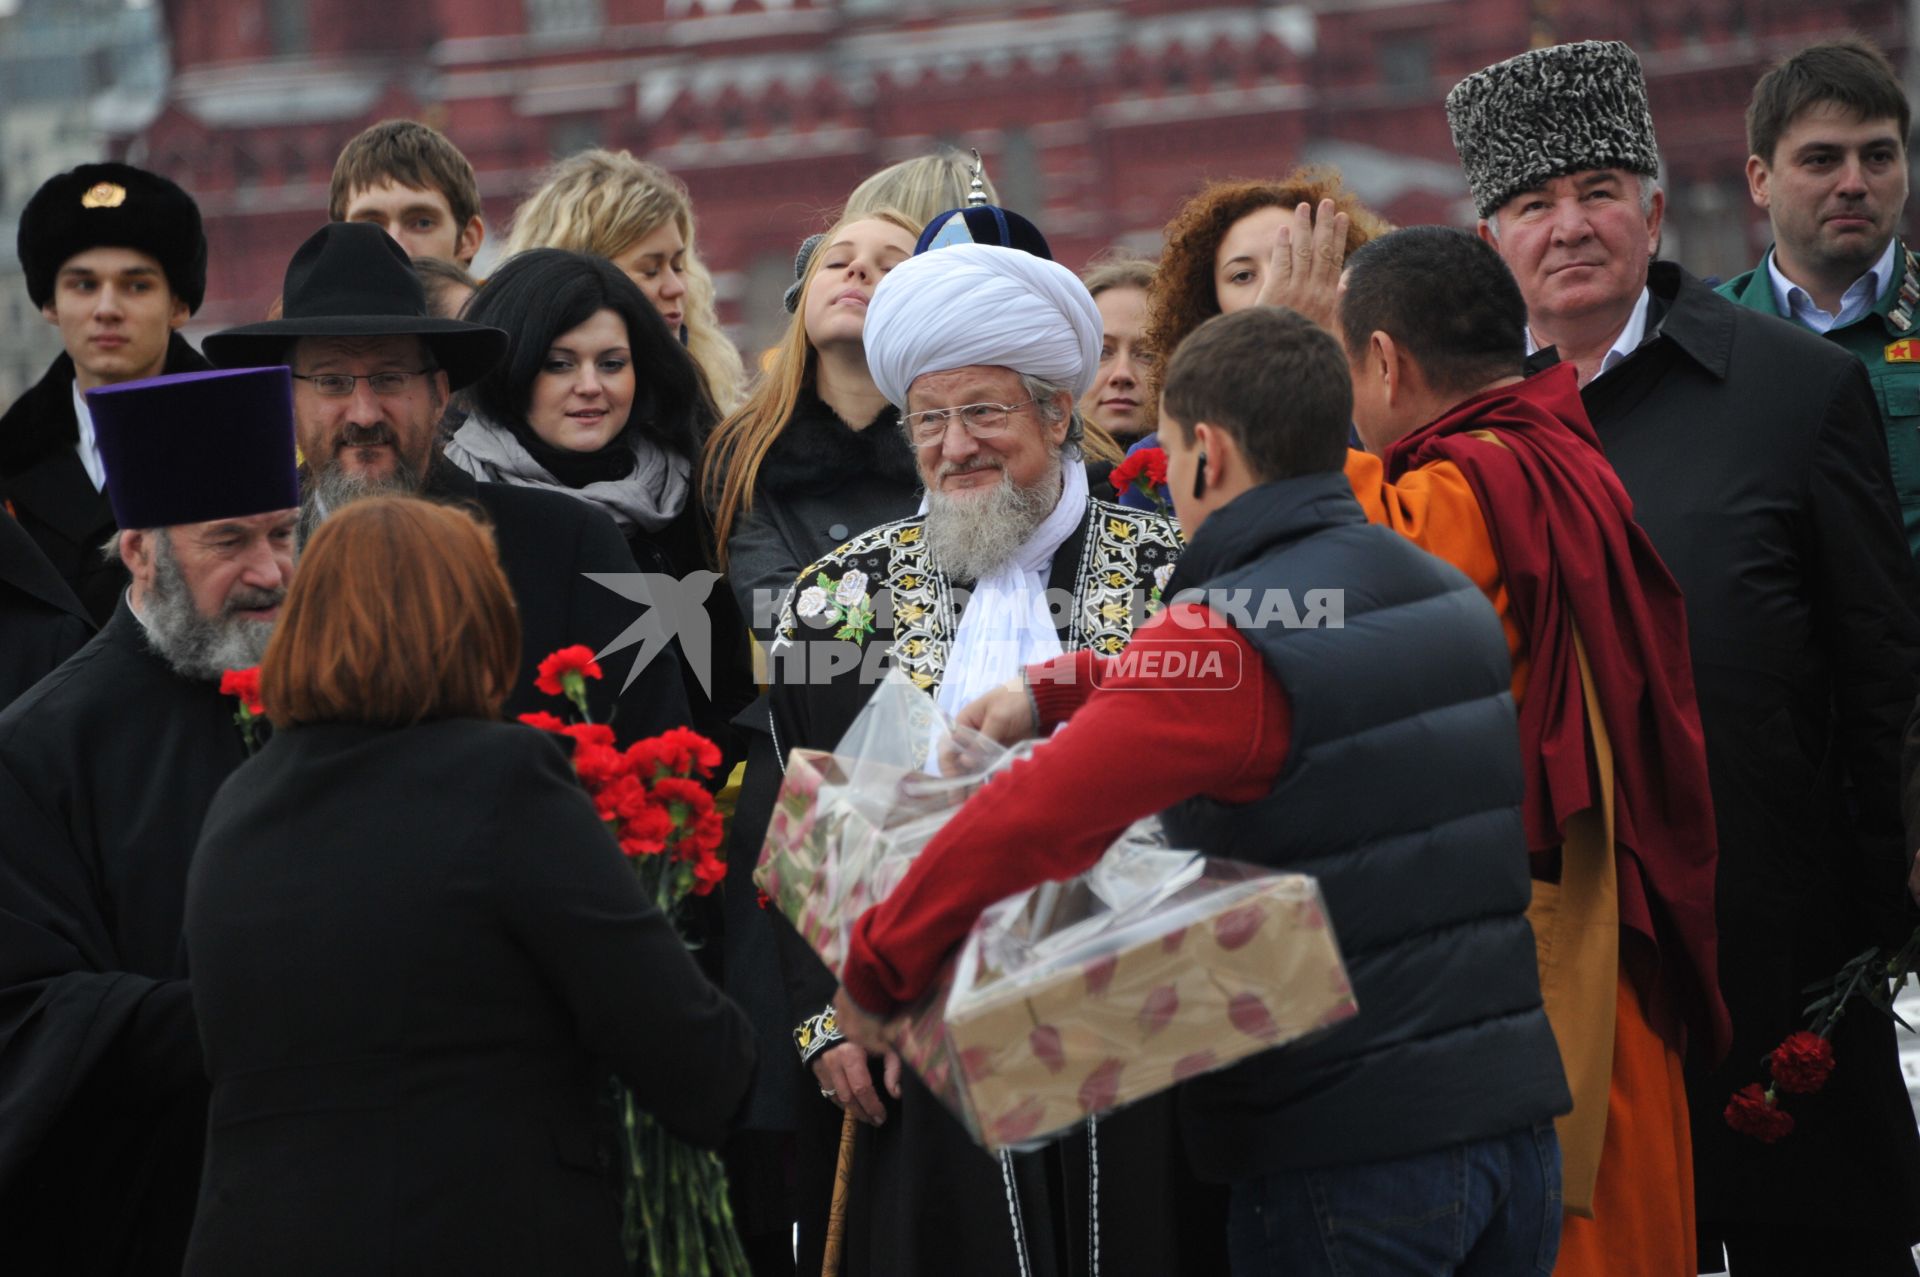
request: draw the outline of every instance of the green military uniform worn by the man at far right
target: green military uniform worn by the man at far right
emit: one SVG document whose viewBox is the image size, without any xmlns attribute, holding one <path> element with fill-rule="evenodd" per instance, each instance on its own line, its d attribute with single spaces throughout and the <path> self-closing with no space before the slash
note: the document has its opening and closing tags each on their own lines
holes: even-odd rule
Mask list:
<svg viewBox="0 0 1920 1277">
<path fill-rule="evenodd" d="M 1768 250 L 1770 252 L 1770 250 Z M 1759 267 L 1720 284 L 1720 296 L 1763 315 L 1780 315 L 1772 273 Z M 1920 257 L 1905 244 L 1893 246 L 1893 278 L 1874 309 L 1826 336 L 1851 349 L 1874 382 L 1880 421 L 1887 432 L 1893 490 L 1901 499 L 1907 547 L 1920 559 Z M 1780 315 L 1791 321 L 1791 315 Z"/>
</svg>

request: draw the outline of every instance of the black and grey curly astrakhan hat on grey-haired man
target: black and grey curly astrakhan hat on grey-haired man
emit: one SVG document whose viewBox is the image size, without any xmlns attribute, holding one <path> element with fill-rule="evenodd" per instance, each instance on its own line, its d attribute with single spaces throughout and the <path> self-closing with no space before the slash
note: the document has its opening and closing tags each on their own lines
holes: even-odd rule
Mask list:
<svg viewBox="0 0 1920 1277">
<path fill-rule="evenodd" d="M 1647 79 L 1619 40 L 1536 48 L 1475 71 L 1446 96 L 1446 117 L 1480 217 L 1551 177 L 1661 167 Z"/>
</svg>

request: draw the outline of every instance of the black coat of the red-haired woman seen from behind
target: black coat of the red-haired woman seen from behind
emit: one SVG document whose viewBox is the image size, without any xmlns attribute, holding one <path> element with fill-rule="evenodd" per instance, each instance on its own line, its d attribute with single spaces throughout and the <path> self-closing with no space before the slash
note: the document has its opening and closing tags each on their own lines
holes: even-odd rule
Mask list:
<svg viewBox="0 0 1920 1277">
<path fill-rule="evenodd" d="M 609 1072 L 718 1144 L 745 1016 L 545 734 L 278 734 L 186 899 L 213 1100 L 186 1271 L 624 1271 Z"/>
</svg>

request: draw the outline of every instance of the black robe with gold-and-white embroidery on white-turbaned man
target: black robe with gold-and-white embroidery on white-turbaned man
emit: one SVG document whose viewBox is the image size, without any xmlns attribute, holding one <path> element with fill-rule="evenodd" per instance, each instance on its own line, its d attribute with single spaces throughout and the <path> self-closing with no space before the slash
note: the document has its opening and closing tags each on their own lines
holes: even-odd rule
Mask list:
<svg viewBox="0 0 1920 1277">
<path fill-rule="evenodd" d="M 1048 580 L 1050 590 L 1073 597 L 1073 607 L 1062 616 L 1062 647 L 1119 651 L 1139 618 L 1139 605 L 1165 576 L 1162 568 L 1171 570 L 1179 547 L 1171 520 L 1106 501 L 1091 503 L 1089 518 L 1054 555 Z M 849 580 L 872 595 L 877 626 L 860 639 L 858 655 L 883 649 L 887 664 L 929 693 L 937 691 L 958 628 L 960 599 L 952 582 L 933 570 L 924 520 L 904 518 L 856 536 L 808 568 L 801 586 L 814 586 L 820 574 L 829 580 L 828 595 Z M 820 639 L 833 630 L 808 628 L 795 616 L 797 609 L 804 616 L 799 588 L 789 595 L 780 634 L 808 647 L 806 664 L 812 664 L 826 659 L 824 649 L 833 643 Z M 770 661 L 770 722 L 778 753 L 770 735 L 758 737 L 735 816 L 733 855 L 749 864 L 780 787 L 785 751 L 795 745 L 831 749 L 874 689 L 854 672 L 803 678 L 799 664 L 783 664 L 778 643 Z M 868 666 L 874 663 L 868 661 Z M 835 981 L 785 920 L 772 912 L 762 918 L 772 920 L 781 949 L 793 1024 L 818 1012 L 831 999 Z M 799 1068 L 791 1043 L 780 1043 L 778 1054 L 764 1056 L 762 1068 Z M 879 1083 L 877 1060 L 874 1081 Z M 1171 1095 L 1150 1096 L 1100 1118 L 1092 1141 L 1096 1154 L 1089 1135 L 1079 1131 L 1002 1166 L 966 1135 L 912 1072 L 904 1072 L 900 1081 L 902 1098 L 887 1098 L 887 1123 L 858 1127 L 843 1269 L 849 1277 L 1020 1273 L 1016 1202 L 1027 1271 L 1035 1277 L 1092 1271 L 1173 1277 L 1227 1269 L 1225 1191 L 1200 1185 L 1187 1168 Z M 806 1073 L 799 1114 L 803 1273 L 820 1267 L 820 1225 L 829 1187 L 824 1175 L 833 1168 L 841 1123 L 839 1108 L 826 1098 L 814 1100 L 816 1091 L 812 1073 Z M 1092 1262 L 1094 1248 L 1098 1265 Z"/>
</svg>

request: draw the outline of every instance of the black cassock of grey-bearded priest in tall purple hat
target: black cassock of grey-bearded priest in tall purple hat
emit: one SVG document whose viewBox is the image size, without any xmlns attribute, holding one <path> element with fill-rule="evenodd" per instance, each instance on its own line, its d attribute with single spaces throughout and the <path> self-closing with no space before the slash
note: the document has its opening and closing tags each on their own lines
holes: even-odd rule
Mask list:
<svg viewBox="0 0 1920 1277">
<path fill-rule="evenodd" d="M 177 1273 L 207 1083 L 186 866 L 246 759 L 234 699 L 125 599 L 0 714 L 0 1269 Z"/>
</svg>

